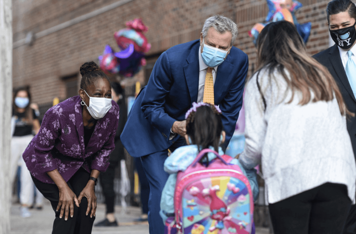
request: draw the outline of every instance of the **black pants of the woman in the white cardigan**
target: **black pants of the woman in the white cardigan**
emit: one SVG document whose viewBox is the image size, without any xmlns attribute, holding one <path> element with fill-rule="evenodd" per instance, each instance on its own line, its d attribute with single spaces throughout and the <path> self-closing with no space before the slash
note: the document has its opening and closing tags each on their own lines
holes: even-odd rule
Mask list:
<svg viewBox="0 0 356 234">
<path fill-rule="evenodd" d="M 274 234 L 339 234 L 350 206 L 346 185 L 325 183 L 268 208 Z"/>
</svg>

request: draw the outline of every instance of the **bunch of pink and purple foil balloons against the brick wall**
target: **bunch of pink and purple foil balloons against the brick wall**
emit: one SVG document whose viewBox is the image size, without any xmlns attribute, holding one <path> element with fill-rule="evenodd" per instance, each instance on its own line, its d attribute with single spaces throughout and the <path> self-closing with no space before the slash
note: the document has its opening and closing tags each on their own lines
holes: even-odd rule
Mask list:
<svg viewBox="0 0 356 234">
<path fill-rule="evenodd" d="M 103 55 L 99 56 L 100 68 L 105 73 L 131 77 L 146 65 L 145 53 L 151 49 L 151 44 L 143 33 L 148 28 L 139 18 L 126 22 L 126 26 L 114 34 L 119 51 L 114 52 L 106 45 Z"/>
</svg>

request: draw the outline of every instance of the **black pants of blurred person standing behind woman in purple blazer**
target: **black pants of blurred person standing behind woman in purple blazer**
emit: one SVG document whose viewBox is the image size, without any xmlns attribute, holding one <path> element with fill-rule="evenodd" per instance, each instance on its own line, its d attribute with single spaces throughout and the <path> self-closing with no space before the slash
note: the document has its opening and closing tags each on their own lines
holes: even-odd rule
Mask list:
<svg viewBox="0 0 356 234">
<path fill-rule="evenodd" d="M 100 173 L 100 185 L 103 189 L 106 204 L 106 214 L 114 213 L 115 191 L 114 191 L 114 177 L 116 163 L 110 162 L 108 169 Z"/>
</svg>

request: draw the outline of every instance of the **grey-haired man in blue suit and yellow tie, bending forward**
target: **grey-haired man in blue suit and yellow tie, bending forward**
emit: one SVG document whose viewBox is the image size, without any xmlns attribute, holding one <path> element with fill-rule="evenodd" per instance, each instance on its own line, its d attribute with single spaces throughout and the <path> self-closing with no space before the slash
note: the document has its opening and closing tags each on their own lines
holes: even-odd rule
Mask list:
<svg viewBox="0 0 356 234">
<path fill-rule="evenodd" d="M 212 100 L 222 111 L 226 145 L 234 133 L 248 70 L 247 55 L 232 46 L 236 36 L 237 26 L 229 18 L 208 18 L 200 40 L 179 44 L 159 56 L 147 86 L 133 104 L 120 139 L 131 156 L 141 157 L 150 182 L 151 234 L 164 233 L 159 216 L 161 193 L 168 178 L 164 160 L 168 149 L 185 145 L 184 115 L 193 102 L 205 100 L 207 73 L 213 77 Z"/>
</svg>

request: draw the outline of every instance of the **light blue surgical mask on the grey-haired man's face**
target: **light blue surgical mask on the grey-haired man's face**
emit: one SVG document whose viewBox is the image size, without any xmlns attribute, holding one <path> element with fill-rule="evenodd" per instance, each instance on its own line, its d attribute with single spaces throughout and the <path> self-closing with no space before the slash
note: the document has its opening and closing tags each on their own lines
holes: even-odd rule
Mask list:
<svg viewBox="0 0 356 234">
<path fill-rule="evenodd" d="M 203 53 L 201 53 L 201 58 L 203 58 L 203 61 L 206 66 L 214 68 L 224 62 L 224 59 L 226 58 L 227 52 L 229 52 L 229 50 L 222 50 L 212 46 L 208 46 L 204 43 L 204 38 L 203 45 L 204 47 Z"/>
</svg>

